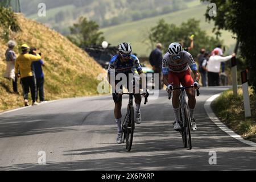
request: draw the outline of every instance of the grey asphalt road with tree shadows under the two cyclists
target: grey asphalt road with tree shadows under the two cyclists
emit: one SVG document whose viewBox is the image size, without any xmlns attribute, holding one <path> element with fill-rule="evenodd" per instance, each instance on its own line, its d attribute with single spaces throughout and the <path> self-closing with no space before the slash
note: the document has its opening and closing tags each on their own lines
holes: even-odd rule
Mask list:
<svg viewBox="0 0 256 182">
<path fill-rule="evenodd" d="M 240 170 L 256 169 L 256 149 L 219 129 L 204 103 L 225 90 L 201 88 L 192 133 L 192 150 L 183 148 L 173 130 L 167 93 L 142 104 L 142 123 L 135 125 L 133 147 L 116 144 L 112 96 L 53 101 L 0 115 L 1 170 Z M 128 97 L 123 99 L 125 115 Z M 39 151 L 46 165 L 39 165 Z M 217 164 L 209 164 L 216 151 Z"/>
</svg>

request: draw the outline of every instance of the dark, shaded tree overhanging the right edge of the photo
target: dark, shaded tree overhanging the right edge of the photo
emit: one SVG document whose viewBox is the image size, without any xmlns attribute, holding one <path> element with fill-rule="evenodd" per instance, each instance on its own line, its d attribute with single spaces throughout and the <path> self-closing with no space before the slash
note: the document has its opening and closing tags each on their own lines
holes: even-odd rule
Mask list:
<svg viewBox="0 0 256 182">
<path fill-rule="evenodd" d="M 205 1 L 205 0 L 201 0 Z M 207 20 L 213 20 L 214 31 L 218 34 L 219 30 L 230 30 L 237 35 L 240 42 L 241 57 L 246 60 L 249 69 L 249 82 L 256 93 L 256 9 L 254 1 L 239 0 L 212 0 L 217 6 L 217 16 L 210 17 L 209 9 L 205 13 Z M 240 65 L 238 65 L 238 68 Z"/>
</svg>

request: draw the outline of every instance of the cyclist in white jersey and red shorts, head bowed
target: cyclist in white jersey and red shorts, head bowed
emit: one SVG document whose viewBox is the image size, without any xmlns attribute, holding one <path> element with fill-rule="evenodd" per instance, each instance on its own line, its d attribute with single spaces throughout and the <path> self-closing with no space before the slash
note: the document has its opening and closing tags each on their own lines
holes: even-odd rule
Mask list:
<svg viewBox="0 0 256 182">
<path fill-rule="evenodd" d="M 193 71 L 195 78 L 191 76 L 191 71 Z M 196 122 L 193 117 L 193 112 L 196 106 L 195 89 L 199 89 L 199 79 L 200 73 L 197 71 L 197 66 L 192 55 L 184 51 L 179 43 L 171 43 L 168 47 L 168 52 L 163 57 L 163 81 L 167 86 L 168 92 L 173 92 L 172 106 L 174 108 L 174 129 L 180 130 L 180 119 L 179 119 L 179 95 L 180 90 L 173 90 L 180 86 L 191 86 L 194 88 L 186 89 L 188 96 L 188 107 L 189 113 L 192 120 L 192 130 L 197 129 Z"/>
</svg>

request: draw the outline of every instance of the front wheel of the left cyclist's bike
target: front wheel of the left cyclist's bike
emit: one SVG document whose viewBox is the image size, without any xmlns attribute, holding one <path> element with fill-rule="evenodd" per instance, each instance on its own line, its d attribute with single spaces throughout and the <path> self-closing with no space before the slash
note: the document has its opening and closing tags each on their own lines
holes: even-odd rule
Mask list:
<svg viewBox="0 0 256 182">
<path fill-rule="evenodd" d="M 127 114 L 127 121 L 126 121 L 126 150 L 131 150 L 131 145 L 133 144 L 133 133 L 134 133 L 134 109 L 133 105 L 130 105 L 129 111 Z"/>
</svg>

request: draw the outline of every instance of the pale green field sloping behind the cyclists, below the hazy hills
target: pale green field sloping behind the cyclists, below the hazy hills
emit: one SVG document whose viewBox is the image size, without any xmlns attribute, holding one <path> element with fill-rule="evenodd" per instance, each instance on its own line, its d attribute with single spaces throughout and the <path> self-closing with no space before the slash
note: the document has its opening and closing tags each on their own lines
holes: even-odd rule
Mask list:
<svg viewBox="0 0 256 182">
<path fill-rule="evenodd" d="M 104 32 L 106 41 L 112 45 L 118 45 L 120 42 L 130 42 L 133 46 L 134 52 L 138 53 L 138 56 L 148 56 L 150 54 L 152 47 L 148 40 L 148 32 L 151 27 L 156 25 L 159 19 L 164 19 L 167 23 L 180 25 L 189 18 L 195 18 L 197 20 L 201 20 L 200 26 L 203 30 L 207 31 L 208 35 L 214 36 L 212 33 L 212 28 L 214 26 L 213 22 L 210 24 L 205 22 L 204 14 L 207 9 L 207 5 L 201 5 L 199 2 L 192 2 L 188 7 L 189 9 L 156 16 L 154 18 L 147 18 L 136 22 L 102 28 L 101 31 Z M 232 38 L 232 35 L 233 34 L 228 31 L 222 31 L 221 39 L 224 40 L 224 44 L 226 46 L 232 46 L 235 44 L 235 40 Z"/>
</svg>

